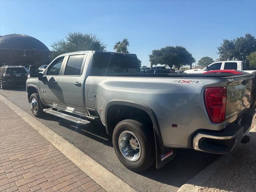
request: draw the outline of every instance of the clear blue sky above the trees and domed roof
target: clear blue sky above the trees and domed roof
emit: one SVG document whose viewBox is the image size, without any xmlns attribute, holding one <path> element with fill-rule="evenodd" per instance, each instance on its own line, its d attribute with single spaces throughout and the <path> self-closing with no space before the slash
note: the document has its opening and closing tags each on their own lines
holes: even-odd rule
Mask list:
<svg viewBox="0 0 256 192">
<path fill-rule="evenodd" d="M 128 38 L 129 51 L 146 66 L 152 50 L 168 45 L 186 47 L 196 61 L 215 60 L 222 39 L 256 36 L 256 0 L 0 0 L 0 35 L 27 34 L 51 49 L 68 32 L 96 34 L 108 51 Z"/>
</svg>

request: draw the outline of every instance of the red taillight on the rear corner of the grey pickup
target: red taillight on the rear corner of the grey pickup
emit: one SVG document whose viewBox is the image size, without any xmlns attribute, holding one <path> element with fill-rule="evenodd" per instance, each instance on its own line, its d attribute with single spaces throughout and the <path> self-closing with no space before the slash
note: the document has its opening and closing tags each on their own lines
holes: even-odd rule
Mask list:
<svg viewBox="0 0 256 192">
<path fill-rule="evenodd" d="M 213 123 L 221 123 L 226 114 L 226 87 L 208 87 L 204 92 L 204 102 L 208 116 Z"/>
</svg>

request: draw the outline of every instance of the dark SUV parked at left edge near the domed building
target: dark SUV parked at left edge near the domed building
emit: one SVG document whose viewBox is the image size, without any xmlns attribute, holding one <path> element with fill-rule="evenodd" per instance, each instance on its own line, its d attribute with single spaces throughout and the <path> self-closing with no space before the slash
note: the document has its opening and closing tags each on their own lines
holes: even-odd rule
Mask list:
<svg viewBox="0 0 256 192">
<path fill-rule="evenodd" d="M 2 66 L 0 67 L 0 89 L 14 85 L 26 86 L 27 77 L 28 72 L 22 66 Z"/>
</svg>

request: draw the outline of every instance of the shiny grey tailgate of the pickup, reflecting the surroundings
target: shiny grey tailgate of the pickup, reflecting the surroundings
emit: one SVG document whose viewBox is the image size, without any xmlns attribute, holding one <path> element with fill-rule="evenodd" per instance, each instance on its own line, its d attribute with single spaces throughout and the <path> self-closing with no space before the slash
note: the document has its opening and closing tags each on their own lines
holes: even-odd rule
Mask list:
<svg viewBox="0 0 256 192">
<path fill-rule="evenodd" d="M 225 120 L 249 108 L 252 92 L 253 75 L 229 77 L 227 84 L 227 103 Z"/>
</svg>

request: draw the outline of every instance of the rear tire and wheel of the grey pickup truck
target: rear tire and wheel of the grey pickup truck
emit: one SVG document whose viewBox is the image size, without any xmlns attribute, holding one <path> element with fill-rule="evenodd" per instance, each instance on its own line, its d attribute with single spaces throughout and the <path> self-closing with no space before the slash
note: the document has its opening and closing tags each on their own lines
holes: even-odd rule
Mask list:
<svg viewBox="0 0 256 192">
<path fill-rule="evenodd" d="M 156 158 L 153 129 L 137 120 L 126 119 L 116 125 L 113 146 L 120 162 L 134 172 L 146 170 Z"/>
</svg>

